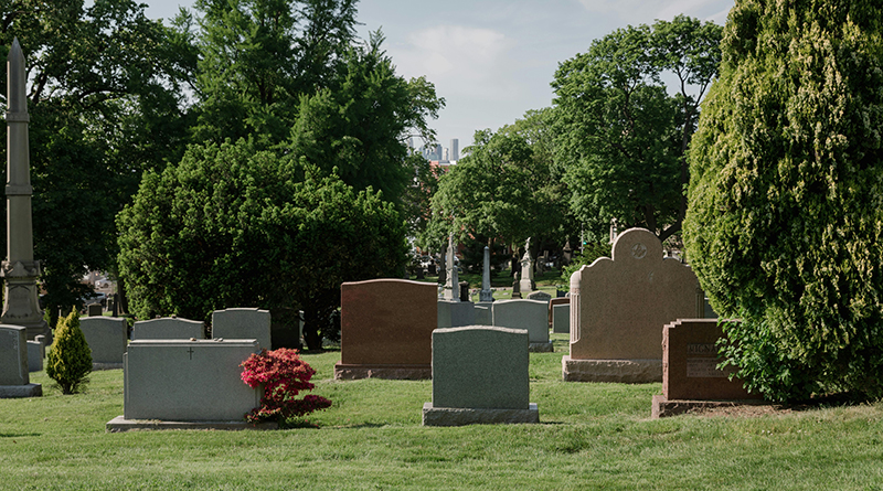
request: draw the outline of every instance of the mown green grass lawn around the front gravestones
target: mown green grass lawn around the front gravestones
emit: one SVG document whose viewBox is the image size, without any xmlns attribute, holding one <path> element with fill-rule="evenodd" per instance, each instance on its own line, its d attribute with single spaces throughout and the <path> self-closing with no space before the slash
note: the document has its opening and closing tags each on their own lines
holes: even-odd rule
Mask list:
<svg viewBox="0 0 883 491">
<path fill-rule="evenodd" d="M 105 433 L 123 372 L 63 396 L 0 399 L 0 489 L 883 490 L 883 403 L 651 420 L 661 384 L 564 383 L 566 339 L 531 353 L 539 425 L 424 428 L 430 382 L 334 382 L 305 354 L 319 428 Z"/>
</svg>

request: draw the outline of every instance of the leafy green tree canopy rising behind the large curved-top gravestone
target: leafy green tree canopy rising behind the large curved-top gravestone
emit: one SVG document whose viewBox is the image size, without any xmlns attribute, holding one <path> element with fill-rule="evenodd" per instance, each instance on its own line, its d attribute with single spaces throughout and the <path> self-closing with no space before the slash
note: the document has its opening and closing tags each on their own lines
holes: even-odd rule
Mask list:
<svg viewBox="0 0 883 491">
<path fill-rule="evenodd" d="M 555 161 L 591 239 L 611 220 L 664 239 L 681 228 L 684 152 L 716 74 L 721 28 L 678 15 L 618 29 L 558 66 Z M 663 73 L 679 86 L 671 90 Z"/>
</svg>

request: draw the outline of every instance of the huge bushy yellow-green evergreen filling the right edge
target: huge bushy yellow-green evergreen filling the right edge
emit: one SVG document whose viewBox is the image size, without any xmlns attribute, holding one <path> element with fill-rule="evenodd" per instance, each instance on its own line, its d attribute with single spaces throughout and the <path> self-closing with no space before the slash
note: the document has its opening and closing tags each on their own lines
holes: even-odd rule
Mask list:
<svg viewBox="0 0 883 491">
<path fill-rule="evenodd" d="M 883 395 L 883 10 L 740 1 L 690 152 L 684 244 L 773 399 Z"/>
</svg>

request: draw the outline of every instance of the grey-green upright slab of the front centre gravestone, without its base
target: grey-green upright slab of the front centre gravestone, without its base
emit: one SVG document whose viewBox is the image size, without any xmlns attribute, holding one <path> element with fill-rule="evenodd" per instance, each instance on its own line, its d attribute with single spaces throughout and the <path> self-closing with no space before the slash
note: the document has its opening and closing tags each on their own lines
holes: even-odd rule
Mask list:
<svg viewBox="0 0 883 491">
<path fill-rule="evenodd" d="M 433 405 L 526 409 L 528 332 L 472 325 L 433 332 Z"/>
</svg>

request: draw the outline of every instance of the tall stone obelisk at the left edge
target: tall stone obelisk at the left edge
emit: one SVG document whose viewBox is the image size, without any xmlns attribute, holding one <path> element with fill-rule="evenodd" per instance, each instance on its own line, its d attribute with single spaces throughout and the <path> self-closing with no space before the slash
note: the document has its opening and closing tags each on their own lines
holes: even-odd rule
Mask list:
<svg viewBox="0 0 883 491">
<path fill-rule="evenodd" d="M 7 61 L 7 260 L 0 268 L 6 280 L 4 324 L 28 328 L 28 339 L 51 337 L 43 320 L 36 292 L 40 261 L 34 260 L 33 225 L 31 222 L 31 158 L 28 150 L 28 102 L 24 55 L 19 40 L 12 41 Z"/>
</svg>

